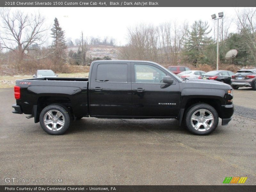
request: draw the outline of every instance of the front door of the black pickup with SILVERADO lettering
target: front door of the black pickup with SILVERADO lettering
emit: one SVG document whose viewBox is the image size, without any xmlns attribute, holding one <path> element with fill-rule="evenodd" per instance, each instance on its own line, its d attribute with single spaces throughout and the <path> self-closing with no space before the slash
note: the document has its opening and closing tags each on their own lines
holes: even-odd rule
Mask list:
<svg viewBox="0 0 256 192">
<path fill-rule="evenodd" d="M 150 63 L 132 63 L 132 116 L 174 117 L 179 112 L 180 87 L 164 84 L 164 76 L 171 76 Z"/>
</svg>

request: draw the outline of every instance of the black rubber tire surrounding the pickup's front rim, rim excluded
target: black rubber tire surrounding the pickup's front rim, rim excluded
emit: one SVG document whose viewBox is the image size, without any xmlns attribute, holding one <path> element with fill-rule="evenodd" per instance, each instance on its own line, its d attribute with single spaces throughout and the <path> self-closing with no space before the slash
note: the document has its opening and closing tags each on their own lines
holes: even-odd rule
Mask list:
<svg viewBox="0 0 256 192">
<path fill-rule="evenodd" d="M 214 118 L 213 125 L 207 131 L 197 131 L 191 125 L 191 122 L 190 122 L 191 116 L 193 115 L 193 113 L 195 111 L 197 111 L 199 109 L 206 109 L 206 110 L 210 111 L 213 115 L 213 118 Z M 192 132 L 196 135 L 207 135 L 207 134 L 210 134 L 211 132 L 213 132 L 217 128 L 217 126 L 219 124 L 219 116 L 218 116 L 217 111 L 211 105 L 208 105 L 206 103 L 199 103 L 199 104 L 194 104 L 188 108 L 186 117 L 185 117 L 185 122 L 186 122 L 186 126 L 190 132 Z"/>
</svg>

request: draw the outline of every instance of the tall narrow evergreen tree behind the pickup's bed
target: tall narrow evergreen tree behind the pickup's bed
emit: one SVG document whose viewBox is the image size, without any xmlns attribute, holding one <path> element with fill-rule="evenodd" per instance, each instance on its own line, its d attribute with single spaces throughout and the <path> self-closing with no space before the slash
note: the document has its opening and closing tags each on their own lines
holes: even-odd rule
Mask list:
<svg viewBox="0 0 256 192">
<path fill-rule="evenodd" d="M 66 40 L 65 40 L 65 31 L 60 27 L 59 21 L 57 18 L 54 19 L 54 24 L 51 29 L 51 37 L 53 38 L 52 49 L 53 49 L 53 58 L 55 63 L 55 70 L 59 70 L 64 63 L 66 62 Z"/>
</svg>

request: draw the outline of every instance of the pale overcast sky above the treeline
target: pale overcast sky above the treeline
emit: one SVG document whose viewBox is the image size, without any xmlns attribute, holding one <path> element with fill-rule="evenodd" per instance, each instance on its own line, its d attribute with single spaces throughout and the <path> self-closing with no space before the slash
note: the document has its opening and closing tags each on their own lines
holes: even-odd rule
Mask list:
<svg viewBox="0 0 256 192">
<path fill-rule="evenodd" d="M 79 38 L 81 31 L 84 36 L 113 37 L 117 45 L 127 43 L 127 28 L 140 23 L 150 23 L 155 26 L 166 21 L 185 20 L 189 25 L 195 20 L 208 21 L 212 26 L 212 14 L 224 12 L 230 18 L 236 17 L 238 8 L 234 7 L 19 7 L 24 12 L 40 11 L 46 19 L 46 24 L 52 28 L 53 20 L 59 20 L 60 27 L 65 30 L 66 37 L 72 40 Z M 242 8 L 239 8 L 242 9 Z M 217 25 L 217 24 L 216 24 Z M 236 27 L 233 26 L 235 31 Z M 50 34 L 50 31 L 49 31 Z M 49 39 L 49 42 L 52 40 Z"/>
</svg>

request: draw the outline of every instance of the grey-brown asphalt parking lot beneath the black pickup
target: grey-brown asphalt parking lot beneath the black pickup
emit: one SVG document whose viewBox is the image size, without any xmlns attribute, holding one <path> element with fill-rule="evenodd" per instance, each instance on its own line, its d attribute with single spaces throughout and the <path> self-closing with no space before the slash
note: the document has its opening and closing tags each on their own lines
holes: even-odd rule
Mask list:
<svg viewBox="0 0 256 192">
<path fill-rule="evenodd" d="M 251 89 L 234 90 L 232 121 L 228 126 L 220 121 L 208 136 L 192 135 L 174 119 L 96 118 L 52 136 L 33 118 L 12 114 L 12 89 L 0 89 L 0 95 L 1 185 L 222 185 L 225 177 L 256 184 Z"/>
</svg>

